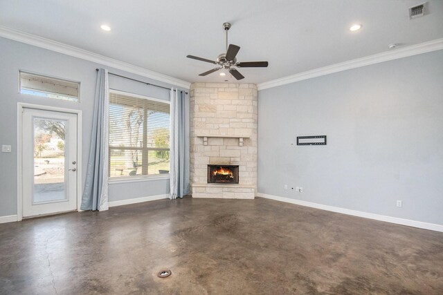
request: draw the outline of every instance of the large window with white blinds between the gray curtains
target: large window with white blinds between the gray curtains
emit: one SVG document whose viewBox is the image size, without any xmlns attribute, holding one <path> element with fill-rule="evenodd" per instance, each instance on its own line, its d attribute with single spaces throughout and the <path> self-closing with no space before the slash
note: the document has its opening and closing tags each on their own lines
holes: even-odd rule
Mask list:
<svg viewBox="0 0 443 295">
<path fill-rule="evenodd" d="M 169 173 L 169 135 L 169 102 L 110 91 L 110 178 Z"/>
</svg>

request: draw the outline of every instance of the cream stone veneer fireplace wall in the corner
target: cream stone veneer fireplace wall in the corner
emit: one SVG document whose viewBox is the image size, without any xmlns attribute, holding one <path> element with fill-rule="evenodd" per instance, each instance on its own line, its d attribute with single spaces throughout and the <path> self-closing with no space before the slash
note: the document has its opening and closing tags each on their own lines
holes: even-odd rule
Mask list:
<svg viewBox="0 0 443 295">
<path fill-rule="evenodd" d="M 194 83 L 190 87 L 190 181 L 193 198 L 255 198 L 257 86 Z M 207 145 L 204 145 L 204 135 Z M 210 137 L 211 135 L 216 137 Z M 224 137 L 227 136 L 227 137 Z M 239 146 L 239 139 L 244 138 Z M 239 184 L 208 184 L 208 164 L 239 165 Z"/>
</svg>

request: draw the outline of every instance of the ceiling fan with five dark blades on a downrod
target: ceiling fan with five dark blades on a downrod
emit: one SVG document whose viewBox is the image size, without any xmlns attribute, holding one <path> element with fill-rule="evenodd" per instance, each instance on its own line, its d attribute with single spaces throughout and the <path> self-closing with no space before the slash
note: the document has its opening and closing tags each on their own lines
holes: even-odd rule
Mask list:
<svg viewBox="0 0 443 295">
<path fill-rule="evenodd" d="M 228 70 L 230 75 L 233 75 L 235 79 L 241 80 L 244 78 L 244 76 L 240 74 L 236 68 L 266 68 L 268 66 L 267 61 L 237 61 L 235 56 L 240 50 L 240 46 L 234 44 L 229 44 L 228 46 L 228 30 L 230 29 L 230 23 L 223 23 L 223 28 L 226 31 L 226 53 L 221 53 L 221 55 L 219 55 L 215 61 L 204 59 L 202 57 L 195 57 L 194 55 L 186 55 L 186 57 L 190 59 L 197 59 L 199 61 L 206 61 L 210 64 L 217 64 L 217 68 L 213 68 L 205 73 L 201 73 L 199 76 L 206 76 L 224 68 Z"/>
</svg>

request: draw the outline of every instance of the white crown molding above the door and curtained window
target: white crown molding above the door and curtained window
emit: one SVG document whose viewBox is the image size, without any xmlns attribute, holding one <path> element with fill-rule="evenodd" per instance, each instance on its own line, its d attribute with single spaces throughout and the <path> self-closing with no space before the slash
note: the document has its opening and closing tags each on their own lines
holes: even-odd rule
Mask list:
<svg viewBox="0 0 443 295">
<path fill-rule="evenodd" d="M 91 53 L 90 51 L 53 41 L 51 39 L 46 39 L 36 35 L 28 34 L 26 32 L 21 32 L 19 30 L 14 30 L 12 28 L 7 28 L 5 26 L 0 26 L 0 37 L 55 51 L 57 53 L 63 53 L 64 55 L 69 55 L 71 57 L 78 57 L 80 59 L 92 61 L 97 64 L 102 64 L 103 66 L 110 66 L 119 70 L 125 70 L 128 73 L 133 73 L 150 79 L 155 79 L 160 82 L 172 84 L 173 86 L 179 86 L 186 89 L 190 88 L 190 82 L 170 77 L 168 75 L 163 75 L 161 73 L 156 73 L 152 70 L 148 70 L 147 68 L 134 66 L 134 64 L 119 61 L 118 59 L 112 59 L 110 57 L 98 55 L 97 53 Z"/>
</svg>

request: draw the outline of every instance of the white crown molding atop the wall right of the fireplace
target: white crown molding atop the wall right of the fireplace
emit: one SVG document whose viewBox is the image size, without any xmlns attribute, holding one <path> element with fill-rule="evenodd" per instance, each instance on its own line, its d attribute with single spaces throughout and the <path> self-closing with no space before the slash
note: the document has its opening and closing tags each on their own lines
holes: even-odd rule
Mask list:
<svg viewBox="0 0 443 295">
<path fill-rule="evenodd" d="M 378 64 L 383 61 L 390 61 L 393 59 L 401 59 L 403 57 L 410 57 L 413 55 L 419 55 L 422 53 L 430 53 L 435 50 L 443 49 L 443 38 L 435 39 L 432 41 L 427 41 L 420 44 L 415 44 L 412 46 L 398 48 L 392 51 L 386 51 L 384 53 L 378 53 L 376 55 L 369 55 L 367 57 L 361 57 L 359 59 L 352 59 L 350 61 L 341 62 L 339 64 L 332 64 L 330 66 L 324 66 L 323 68 L 316 68 L 314 70 L 308 70 L 303 73 L 298 73 L 296 75 L 291 75 L 287 77 L 282 77 L 280 79 L 271 80 L 269 82 L 263 82 L 257 84 L 257 89 L 259 91 L 273 88 L 277 86 L 282 86 L 285 84 L 291 84 L 294 82 L 299 82 L 306 79 L 311 79 L 315 77 L 320 77 L 324 75 L 329 75 L 332 73 L 338 73 L 343 70 L 350 70 L 352 68 L 359 68 L 361 66 L 369 66 L 371 64 Z"/>
</svg>

